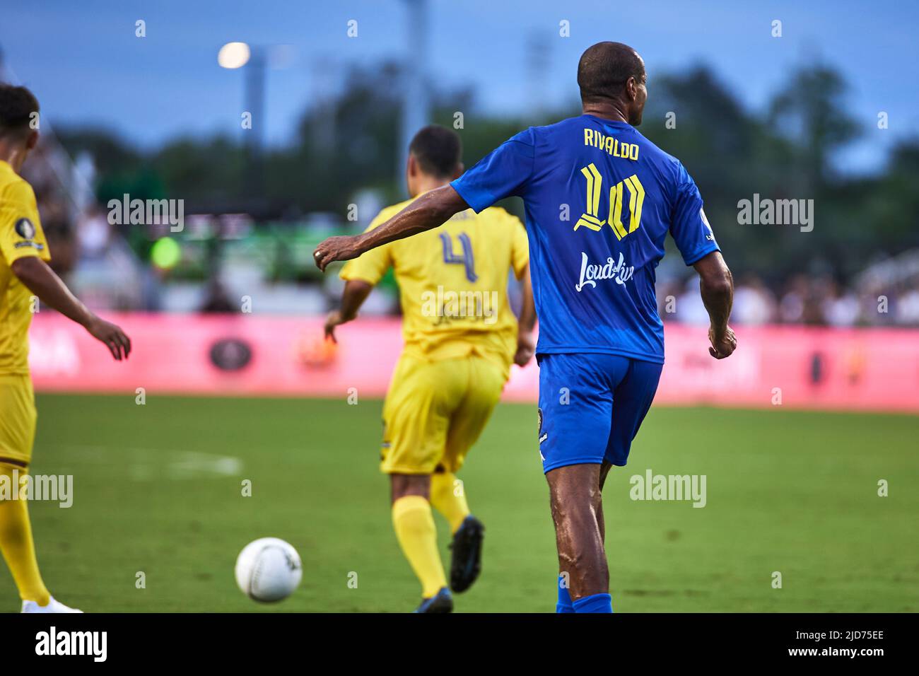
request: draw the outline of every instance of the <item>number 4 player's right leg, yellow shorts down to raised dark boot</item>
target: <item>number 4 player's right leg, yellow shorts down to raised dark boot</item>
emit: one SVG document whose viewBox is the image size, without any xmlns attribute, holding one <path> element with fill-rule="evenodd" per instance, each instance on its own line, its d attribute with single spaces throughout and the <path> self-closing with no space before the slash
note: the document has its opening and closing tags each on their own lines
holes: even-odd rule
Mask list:
<svg viewBox="0 0 919 676">
<path fill-rule="evenodd" d="M 447 445 L 431 485 L 431 504 L 444 515 L 453 533 L 450 544 L 450 589 L 468 590 L 482 572 L 482 541 L 485 527 L 470 512 L 466 487 L 456 473 L 466 453 L 479 440 L 492 417 L 505 386 L 505 370 L 482 357 L 465 360 L 468 372 L 466 395 L 450 418 Z"/>
</svg>

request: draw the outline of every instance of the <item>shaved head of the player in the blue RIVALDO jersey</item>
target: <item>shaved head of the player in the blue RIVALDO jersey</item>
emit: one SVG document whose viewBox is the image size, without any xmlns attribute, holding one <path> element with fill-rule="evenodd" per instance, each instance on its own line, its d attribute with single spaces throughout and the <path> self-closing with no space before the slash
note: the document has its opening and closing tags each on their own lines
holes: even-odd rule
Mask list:
<svg viewBox="0 0 919 676">
<path fill-rule="evenodd" d="M 641 123 L 644 92 L 644 61 L 622 42 L 597 42 L 588 47 L 577 64 L 581 102 L 588 106 L 612 104 L 623 110 L 630 124 Z"/>
</svg>

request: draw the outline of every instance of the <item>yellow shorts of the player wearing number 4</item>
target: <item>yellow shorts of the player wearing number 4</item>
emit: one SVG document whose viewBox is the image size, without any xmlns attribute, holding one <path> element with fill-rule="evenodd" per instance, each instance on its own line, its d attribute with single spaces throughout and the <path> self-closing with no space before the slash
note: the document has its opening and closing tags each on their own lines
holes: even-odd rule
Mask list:
<svg viewBox="0 0 919 676">
<path fill-rule="evenodd" d="M 479 356 L 426 361 L 403 353 L 383 404 L 380 470 L 459 470 L 504 386 L 505 371 Z"/>
</svg>

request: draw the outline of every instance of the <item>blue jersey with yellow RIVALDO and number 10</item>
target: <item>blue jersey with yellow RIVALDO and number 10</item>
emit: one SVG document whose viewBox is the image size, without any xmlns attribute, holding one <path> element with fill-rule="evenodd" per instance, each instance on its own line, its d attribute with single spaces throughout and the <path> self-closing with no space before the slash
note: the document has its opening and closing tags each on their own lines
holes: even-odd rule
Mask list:
<svg viewBox="0 0 919 676">
<path fill-rule="evenodd" d="M 664 362 L 654 293 L 664 238 L 686 265 L 718 250 L 679 160 L 630 124 L 582 115 L 518 133 L 451 185 L 476 212 L 523 198 L 537 352 Z"/>
</svg>

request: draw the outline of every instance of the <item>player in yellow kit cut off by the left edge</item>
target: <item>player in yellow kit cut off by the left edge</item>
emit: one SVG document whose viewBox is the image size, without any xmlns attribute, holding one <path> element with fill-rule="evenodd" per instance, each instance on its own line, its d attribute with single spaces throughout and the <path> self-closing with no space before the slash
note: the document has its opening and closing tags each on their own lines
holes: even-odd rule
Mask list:
<svg viewBox="0 0 919 676">
<path fill-rule="evenodd" d="M 127 359 L 130 340 L 87 310 L 46 263 L 51 252 L 35 193 L 18 175 L 38 143 L 38 115 L 39 102 L 28 89 L 0 83 L 0 551 L 16 580 L 23 613 L 79 613 L 55 601 L 45 588 L 28 502 L 21 499 L 37 418 L 28 375 L 33 296 L 85 327 L 116 360 Z"/>
</svg>

